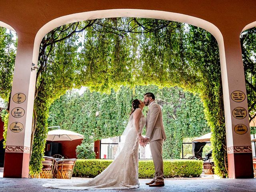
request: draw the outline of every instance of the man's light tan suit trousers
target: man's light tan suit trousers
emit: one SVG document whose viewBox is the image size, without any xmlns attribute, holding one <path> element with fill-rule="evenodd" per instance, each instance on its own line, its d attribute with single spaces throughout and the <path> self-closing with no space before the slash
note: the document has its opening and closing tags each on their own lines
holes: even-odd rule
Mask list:
<svg viewBox="0 0 256 192">
<path fill-rule="evenodd" d="M 149 146 L 155 167 L 153 181 L 164 182 L 164 162 L 162 156 L 163 140 L 158 139 L 152 141 L 150 142 Z"/>
</svg>

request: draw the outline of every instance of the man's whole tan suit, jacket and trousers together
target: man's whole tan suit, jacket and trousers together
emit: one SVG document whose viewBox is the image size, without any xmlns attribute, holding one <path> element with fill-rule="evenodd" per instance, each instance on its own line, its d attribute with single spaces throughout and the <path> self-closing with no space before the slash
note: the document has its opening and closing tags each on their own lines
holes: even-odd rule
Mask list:
<svg viewBox="0 0 256 192">
<path fill-rule="evenodd" d="M 148 106 L 146 137 L 150 142 L 150 151 L 155 167 L 153 181 L 164 182 L 162 145 L 166 139 L 166 134 L 164 132 L 162 110 L 155 101 Z"/>
</svg>

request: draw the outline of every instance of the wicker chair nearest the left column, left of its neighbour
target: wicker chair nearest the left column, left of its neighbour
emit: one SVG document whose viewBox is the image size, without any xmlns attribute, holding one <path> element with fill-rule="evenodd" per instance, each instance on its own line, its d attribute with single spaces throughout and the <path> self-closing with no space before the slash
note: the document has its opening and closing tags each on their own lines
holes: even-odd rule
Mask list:
<svg viewBox="0 0 256 192">
<path fill-rule="evenodd" d="M 42 164 L 43 168 L 40 172 L 39 178 L 52 179 L 56 165 L 56 160 L 52 157 L 44 156 L 44 161 L 42 161 Z"/>
</svg>

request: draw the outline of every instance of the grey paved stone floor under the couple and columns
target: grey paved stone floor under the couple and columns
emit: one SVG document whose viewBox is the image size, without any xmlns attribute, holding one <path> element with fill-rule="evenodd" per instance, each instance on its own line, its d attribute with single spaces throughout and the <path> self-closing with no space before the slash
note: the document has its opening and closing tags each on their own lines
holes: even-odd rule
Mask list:
<svg viewBox="0 0 256 192">
<path fill-rule="evenodd" d="M 42 184 L 56 179 L 0 178 L 0 192 L 81 192 L 84 190 L 60 190 L 44 188 Z M 256 192 L 256 179 L 176 179 L 165 180 L 164 187 L 149 187 L 140 180 L 140 188 L 130 190 L 97 190 L 97 192 Z M 92 192 L 95 190 L 86 190 Z"/>
</svg>

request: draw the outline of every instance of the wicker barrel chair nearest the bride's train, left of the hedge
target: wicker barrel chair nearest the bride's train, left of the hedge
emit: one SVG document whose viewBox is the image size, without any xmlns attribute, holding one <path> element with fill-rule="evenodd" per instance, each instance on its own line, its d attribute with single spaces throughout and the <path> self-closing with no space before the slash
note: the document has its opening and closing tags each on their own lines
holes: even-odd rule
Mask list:
<svg viewBox="0 0 256 192">
<path fill-rule="evenodd" d="M 64 159 L 56 162 L 55 176 L 57 179 L 71 179 L 76 159 Z"/>
</svg>

